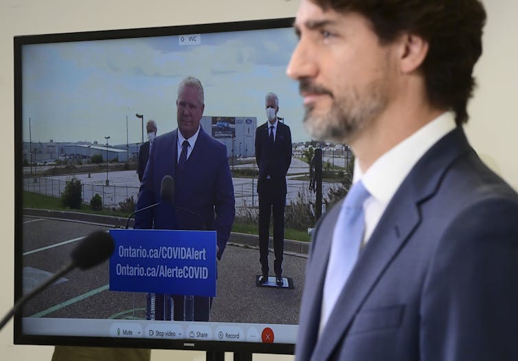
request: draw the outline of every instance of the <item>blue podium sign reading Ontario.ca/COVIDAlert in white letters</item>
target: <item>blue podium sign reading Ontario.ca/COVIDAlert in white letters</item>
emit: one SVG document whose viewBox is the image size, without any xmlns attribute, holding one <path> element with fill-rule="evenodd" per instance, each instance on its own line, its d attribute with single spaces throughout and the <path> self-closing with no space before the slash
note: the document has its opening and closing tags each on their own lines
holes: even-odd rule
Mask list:
<svg viewBox="0 0 518 361">
<path fill-rule="evenodd" d="M 111 229 L 110 290 L 216 296 L 216 231 Z"/>
</svg>

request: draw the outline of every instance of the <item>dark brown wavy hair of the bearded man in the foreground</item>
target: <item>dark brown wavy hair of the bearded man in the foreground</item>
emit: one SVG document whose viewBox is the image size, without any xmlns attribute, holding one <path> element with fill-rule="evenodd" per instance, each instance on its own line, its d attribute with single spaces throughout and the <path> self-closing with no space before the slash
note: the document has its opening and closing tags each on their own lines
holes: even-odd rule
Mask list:
<svg viewBox="0 0 518 361">
<path fill-rule="evenodd" d="M 486 12 L 479 0 L 311 0 L 323 10 L 357 12 L 372 24 L 381 44 L 405 32 L 424 38 L 428 54 L 420 66 L 432 106 L 468 120 L 473 66 L 482 54 Z"/>
</svg>

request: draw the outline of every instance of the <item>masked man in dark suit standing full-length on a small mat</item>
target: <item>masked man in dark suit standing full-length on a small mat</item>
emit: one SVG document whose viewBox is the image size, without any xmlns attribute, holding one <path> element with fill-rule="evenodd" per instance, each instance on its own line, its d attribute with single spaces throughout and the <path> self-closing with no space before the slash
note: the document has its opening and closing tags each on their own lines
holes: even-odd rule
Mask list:
<svg viewBox="0 0 518 361">
<path fill-rule="evenodd" d="M 286 205 L 286 173 L 291 163 L 291 132 L 277 117 L 279 100 L 274 93 L 265 99 L 267 122 L 256 129 L 256 161 L 259 167 L 259 283 L 268 281 L 268 243 L 270 215 L 273 212 L 273 252 L 275 283 L 282 286 L 284 253 L 284 207 Z"/>
</svg>

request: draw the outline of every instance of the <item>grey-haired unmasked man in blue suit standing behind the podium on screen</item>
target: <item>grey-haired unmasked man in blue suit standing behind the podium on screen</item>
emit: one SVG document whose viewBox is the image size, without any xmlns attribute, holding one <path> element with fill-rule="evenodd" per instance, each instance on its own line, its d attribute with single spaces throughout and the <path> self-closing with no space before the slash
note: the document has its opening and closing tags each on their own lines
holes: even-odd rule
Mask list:
<svg viewBox="0 0 518 361">
<path fill-rule="evenodd" d="M 174 178 L 174 204 L 159 206 L 135 215 L 137 229 L 215 230 L 216 255 L 221 259 L 234 222 L 234 186 L 227 148 L 207 135 L 200 126 L 205 108 L 203 86 L 193 77 L 178 88 L 178 128 L 153 142 L 137 209 L 160 201 L 161 180 Z M 172 296 L 174 320 L 183 320 L 183 296 Z M 208 321 L 212 299 L 194 297 L 194 321 Z M 164 311 L 165 310 L 165 311 Z M 170 320 L 168 296 L 156 297 L 155 319 Z"/>
</svg>

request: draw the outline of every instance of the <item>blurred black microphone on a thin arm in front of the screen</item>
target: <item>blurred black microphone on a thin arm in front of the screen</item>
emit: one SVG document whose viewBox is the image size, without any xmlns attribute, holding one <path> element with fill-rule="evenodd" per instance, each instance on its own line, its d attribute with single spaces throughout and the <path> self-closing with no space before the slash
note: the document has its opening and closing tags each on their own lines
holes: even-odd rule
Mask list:
<svg viewBox="0 0 518 361">
<path fill-rule="evenodd" d="M 95 231 L 90 233 L 85 237 L 84 240 L 74 248 L 74 251 L 71 253 L 71 262 L 67 264 L 64 268 L 56 272 L 56 274 L 40 286 L 34 288 L 31 292 L 25 294 L 21 297 L 12 309 L 3 316 L 2 321 L 0 321 L 0 329 L 5 326 L 5 324 L 10 320 L 14 312 L 18 311 L 22 305 L 24 305 L 27 301 L 32 299 L 32 297 L 36 296 L 36 294 L 45 290 L 48 286 L 52 285 L 57 279 L 63 277 L 63 275 L 67 274 L 74 268 L 80 268 L 81 270 L 86 270 L 93 266 L 97 266 L 102 261 L 109 259 L 111 254 L 113 253 L 113 249 L 115 248 L 115 243 L 113 242 L 113 238 L 111 235 L 104 231 Z"/>
</svg>

